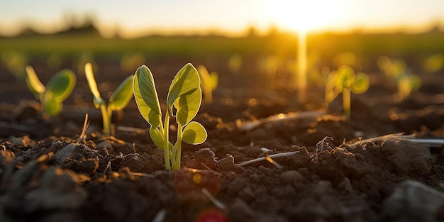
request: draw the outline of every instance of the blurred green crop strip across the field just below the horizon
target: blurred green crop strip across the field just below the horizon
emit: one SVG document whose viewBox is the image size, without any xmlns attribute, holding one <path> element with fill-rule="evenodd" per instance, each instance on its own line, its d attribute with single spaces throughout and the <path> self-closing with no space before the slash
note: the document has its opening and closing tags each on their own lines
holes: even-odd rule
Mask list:
<svg viewBox="0 0 444 222">
<path fill-rule="evenodd" d="M 90 35 L 41 35 L 35 37 L 0 38 L 0 52 L 16 50 L 27 55 L 79 55 L 91 51 L 99 57 L 141 51 L 148 56 L 164 55 L 294 55 L 297 47 L 293 35 L 226 38 L 211 36 L 150 36 L 137 39 L 104 39 Z M 444 53 L 444 33 L 361 34 L 321 33 L 307 37 L 309 52 L 328 58 L 350 51 L 375 59 L 379 55 L 422 57 Z M 260 47 L 257 47 L 260 45 Z"/>
</svg>

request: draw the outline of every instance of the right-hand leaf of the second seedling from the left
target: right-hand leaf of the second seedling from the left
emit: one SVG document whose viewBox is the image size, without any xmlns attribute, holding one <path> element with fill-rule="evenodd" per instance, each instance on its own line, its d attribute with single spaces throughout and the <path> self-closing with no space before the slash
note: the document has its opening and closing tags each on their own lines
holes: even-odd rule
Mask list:
<svg viewBox="0 0 444 222">
<path fill-rule="evenodd" d="M 133 98 L 133 75 L 126 77 L 125 80 L 113 92 L 109 98 L 109 105 L 113 110 L 121 110 Z"/>
</svg>

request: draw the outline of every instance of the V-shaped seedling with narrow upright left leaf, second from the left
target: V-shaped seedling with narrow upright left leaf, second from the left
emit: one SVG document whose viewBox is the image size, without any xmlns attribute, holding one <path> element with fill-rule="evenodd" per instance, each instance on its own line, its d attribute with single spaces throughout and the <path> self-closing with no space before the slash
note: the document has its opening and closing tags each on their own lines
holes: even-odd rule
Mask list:
<svg viewBox="0 0 444 222">
<path fill-rule="evenodd" d="M 101 110 L 101 116 L 104 121 L 104 134 L 111 135 L 111 116 L 113 111 L 125 108 L 133 97 L 133 90 L 131 89 L 133 75 L 123 80 L 109 98 L 108 104 L 106 104 L 100 96 L 99 89 L 97 89 L 96 79 L 94 79 L 94 73 L 92 72 L 92 65 L 89 62 L 85 65 L 85 74 L 87 75 L 89 89 L 91 89 L 93 95 L 94 106 L 96 109 Z"/>
</svg>

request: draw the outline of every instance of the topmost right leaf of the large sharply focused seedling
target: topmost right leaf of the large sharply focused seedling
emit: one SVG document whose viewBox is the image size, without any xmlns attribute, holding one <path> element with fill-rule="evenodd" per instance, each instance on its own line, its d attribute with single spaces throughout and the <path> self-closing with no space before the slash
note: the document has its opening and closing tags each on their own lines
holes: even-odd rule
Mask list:
<svg viewBox="0 0 444 222">
<path fill-rule="evenodd" d="M 168 112 L 172 115 L 172 106 L 179 96 L 191 94 L 199 88 L 201 81 L 196 68 L 188 63 L 184 65 L 172 80 L 167 96 Z"/>
</svg>

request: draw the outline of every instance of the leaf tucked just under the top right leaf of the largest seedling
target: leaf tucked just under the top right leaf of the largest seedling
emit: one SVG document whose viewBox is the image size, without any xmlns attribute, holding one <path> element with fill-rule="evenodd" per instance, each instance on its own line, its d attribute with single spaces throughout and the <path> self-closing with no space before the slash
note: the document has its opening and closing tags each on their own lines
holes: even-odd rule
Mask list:
<svg viewBox="0 0 444 222">
<path fill-rule="evenodd" d="M 191 94 L 180 96 L 174 107 L 177 109 L 176 120 L 182 126 L 187 125 L 196 116 L 202 102 L 202 91 L 198 87 Z"/>
</svg>

